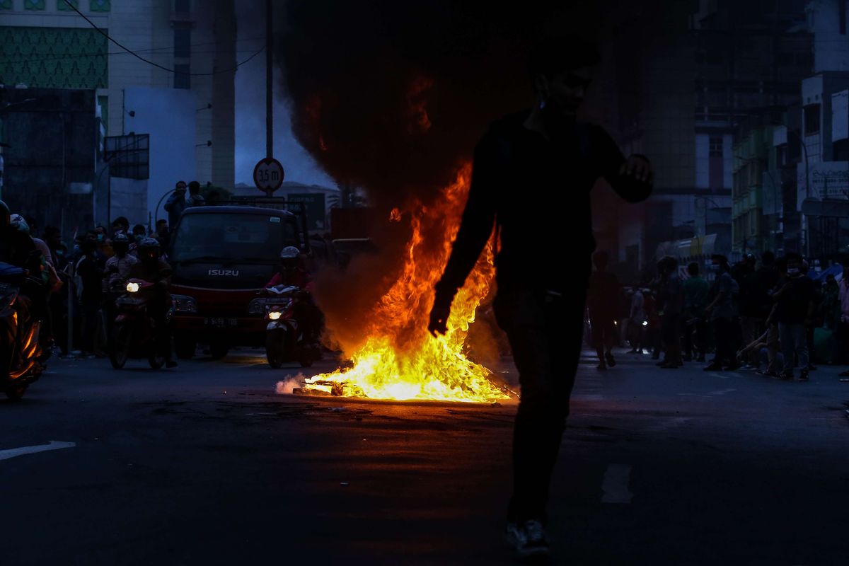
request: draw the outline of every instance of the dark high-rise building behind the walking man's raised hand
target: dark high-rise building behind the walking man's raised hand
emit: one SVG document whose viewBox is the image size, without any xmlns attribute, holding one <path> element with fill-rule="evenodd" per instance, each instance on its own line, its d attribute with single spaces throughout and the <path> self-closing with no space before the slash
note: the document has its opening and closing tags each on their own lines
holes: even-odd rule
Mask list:
<svg viewBox="0 0 849 566">
<path fill-rule="evenodd" d="M 623 222 L 620 257 L 639 246 L 648 266 L 688 248 L 676 242 L 711 235 L 715 251 L 732 255 L 735 125 L 750 109 L 799 103 L 813 65 L 805 5 L 663 3 L 617 36 L 619 141 L 657 171 L 642 215 L 650 223 Z"/>
</svg>

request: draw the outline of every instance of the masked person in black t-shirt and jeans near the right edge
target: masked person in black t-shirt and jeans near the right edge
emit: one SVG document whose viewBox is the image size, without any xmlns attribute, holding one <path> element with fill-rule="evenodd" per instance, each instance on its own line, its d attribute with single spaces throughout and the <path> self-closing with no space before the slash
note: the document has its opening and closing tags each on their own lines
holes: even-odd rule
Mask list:
<svg viewBox="0 0 849 566">
<path fill-rule="evenodd" d="M 779 323 L 779 340 L 784 354 L 784 371 L 781 378 L 793 380 L 793 361 L 798 359 L 799 379 L 807 381 L 808 349 L 806 327 L 811 324 L 814 313 L 814 284 L 802 273 L 801 255 L 790 253 L 787 261 L 787 278 L 778 292 L 773 294 L 776 302 L 775 320 Z"/>
</svg>

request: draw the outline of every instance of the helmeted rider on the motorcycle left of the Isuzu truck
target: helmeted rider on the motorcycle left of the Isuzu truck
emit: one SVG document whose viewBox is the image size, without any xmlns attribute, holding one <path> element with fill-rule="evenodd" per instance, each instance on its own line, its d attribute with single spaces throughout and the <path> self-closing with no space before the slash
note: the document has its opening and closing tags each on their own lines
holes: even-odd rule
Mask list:
<svg viewBox="0 0 849 566">
<path fill-rule="evenodd" d="M 166 367 L 177 367 L 171 357 L 171 328 L 167 324 L 168 309 L 171 308 L 171 266 L 160 257 L 160 245 L 155 238 L 144 238 L 138 244 L 138 262 L 130 266 L 127 279 L 143 279 L 154 283 L 148 302 L 148 312 L 156 324 L 157 342 Z"/>
</svg>

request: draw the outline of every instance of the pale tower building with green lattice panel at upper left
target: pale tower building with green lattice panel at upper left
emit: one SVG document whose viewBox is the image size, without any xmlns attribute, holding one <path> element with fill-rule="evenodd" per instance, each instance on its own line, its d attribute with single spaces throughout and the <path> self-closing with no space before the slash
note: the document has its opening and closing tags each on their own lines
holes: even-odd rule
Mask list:
<svg viewBox="0 0 849 566">
<path fill-rule="evenodd" d="M 150 213 L 167 188 L 160 185 L 173 187 L 177 178 L 232 188 L 233 0 L 70 3 L 91 23 L 65 0 L 0 1 L 0 83 L 93 89 L 103 135 L 150 133 L 151 184 L 145 197 Z M 149 62 L 109 42 L 93 25 Z M 183 104 L 173 104 L 175 98 Z M 155 132 L 161 124 L 171 124 L 170 131 Z M 168 158 L 175 144 L 184 161 L 177 171 Z"/>
</svg>

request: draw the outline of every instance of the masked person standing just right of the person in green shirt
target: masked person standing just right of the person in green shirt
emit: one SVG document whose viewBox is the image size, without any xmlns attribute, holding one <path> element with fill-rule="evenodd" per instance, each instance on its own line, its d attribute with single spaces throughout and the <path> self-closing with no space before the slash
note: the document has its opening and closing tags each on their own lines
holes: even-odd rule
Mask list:
<svg viewBox="0 0 849 566">
<path fill-rule="evenodd" d="M 739 293 L 739 286 L 730 271 L 727 257 L 718 254 L 711 256 L 711 272 L 716 276 L 712 289 L 714 298 L 706 306 L 705 312 L 713 324 L 717 355 L 704 367 L 706 372 L 721 372 L 723 369 L 734 371 L 740 367 L 735 355 L 737 345 L 734 343 L 738 334 L 738 312 L 734 300 Z"/>
</svg>

